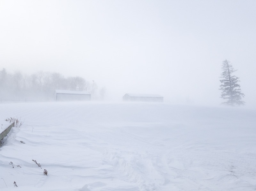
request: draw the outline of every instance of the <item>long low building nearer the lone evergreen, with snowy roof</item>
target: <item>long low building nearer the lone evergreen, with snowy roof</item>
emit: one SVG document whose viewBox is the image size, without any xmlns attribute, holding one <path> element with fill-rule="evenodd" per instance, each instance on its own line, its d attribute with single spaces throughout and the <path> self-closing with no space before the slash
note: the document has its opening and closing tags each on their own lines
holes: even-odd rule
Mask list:
<svg viewBox="0 0 256 191">
<path fill-rule="evenodd" d="M 163 102 L 164 97 L 157 94 L 133 94 L 126 93 L 123 101 Z"/>
</svg>

